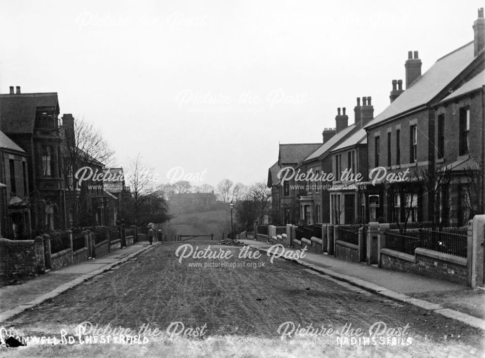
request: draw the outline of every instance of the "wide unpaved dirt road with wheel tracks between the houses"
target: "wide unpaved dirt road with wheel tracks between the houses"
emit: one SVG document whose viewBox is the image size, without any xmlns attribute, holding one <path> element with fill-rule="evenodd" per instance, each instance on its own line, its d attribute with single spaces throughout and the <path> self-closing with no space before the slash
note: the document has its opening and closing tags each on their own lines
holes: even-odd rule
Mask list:
<svg viewBox="0 0 485 358">
<path fill-rule="evenodd" d="M 64 332 L 74 344 L 31 341 L 0 353 L 479 357 L 483 352 L 479 329 L 291 261 L 271 262 L 254 249 L 241 254 L 240 247 L 213 244 L 164 243 L 3 324 L 23 337 L 60 340 Z M 80 341 L 76 333 L 83 322 L 101 329 L 90 332 L 85 323 Z M 119 336 L 113 327 L 147 341 L 80 344 L 103 333 Z"/>
</svg>

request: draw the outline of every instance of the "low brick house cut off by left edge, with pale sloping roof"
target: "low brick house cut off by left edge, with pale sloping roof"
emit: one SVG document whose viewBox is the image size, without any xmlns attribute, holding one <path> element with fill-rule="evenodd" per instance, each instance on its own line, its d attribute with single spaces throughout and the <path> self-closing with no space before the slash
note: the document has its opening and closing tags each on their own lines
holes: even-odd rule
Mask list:
<svg viewBox="0 0 485 358">
<path fill-rule="evenodd" d="M 27 154 L 0 132 L 0 237 L 31 238 Z"/>
</svg>

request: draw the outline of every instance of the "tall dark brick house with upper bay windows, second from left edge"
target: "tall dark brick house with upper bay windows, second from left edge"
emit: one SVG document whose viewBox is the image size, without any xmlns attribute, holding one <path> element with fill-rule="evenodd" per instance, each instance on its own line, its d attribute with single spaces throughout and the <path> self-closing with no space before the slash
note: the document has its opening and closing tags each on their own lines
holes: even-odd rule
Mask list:
<svg viewBox="0 0 485 358">
<path fill-rule="evenodd" d="M 31 221 L 35 231 L 65 228 L 57 93 L 0 94 L 0 130 L 27 155 Z"/>
</svg>

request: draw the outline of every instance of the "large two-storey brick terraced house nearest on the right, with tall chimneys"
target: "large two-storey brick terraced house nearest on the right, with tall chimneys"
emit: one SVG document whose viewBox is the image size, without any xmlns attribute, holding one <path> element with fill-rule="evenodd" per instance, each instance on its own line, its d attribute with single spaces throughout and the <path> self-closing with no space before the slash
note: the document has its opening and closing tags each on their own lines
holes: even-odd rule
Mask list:
<svg viewBox="0 0 485 358">
<path fill-rule="evenodd" d="M 409 51 L 406 90 L 397 98 L 391 93 L 392 103 L 365 126 L 369 170 L 391 175 L 366 193 L 371 221 L 465 225 L 474 213 L 483 213 L 483 180 L 467 179 L 483 178 L 483 8 L 473 30 L 473 41 L 423 74 L 418 51 Z M 409 181 L 392 183 L 392 174 L 405 171 Z"/>
</svg>

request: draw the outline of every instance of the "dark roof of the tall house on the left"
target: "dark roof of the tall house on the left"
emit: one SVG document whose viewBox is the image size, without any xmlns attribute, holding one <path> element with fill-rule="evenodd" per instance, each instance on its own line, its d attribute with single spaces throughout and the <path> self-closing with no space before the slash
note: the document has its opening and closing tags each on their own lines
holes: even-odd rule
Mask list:
<svg viewBox="0 0 485 358">
<path fill-rule="evenodd" d="M 59 109 L 57 93 L 0 94 L 0 130 L 32 133 L 38 107 Z"/>
</svg>

